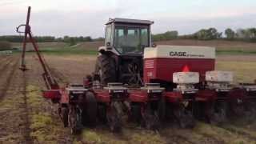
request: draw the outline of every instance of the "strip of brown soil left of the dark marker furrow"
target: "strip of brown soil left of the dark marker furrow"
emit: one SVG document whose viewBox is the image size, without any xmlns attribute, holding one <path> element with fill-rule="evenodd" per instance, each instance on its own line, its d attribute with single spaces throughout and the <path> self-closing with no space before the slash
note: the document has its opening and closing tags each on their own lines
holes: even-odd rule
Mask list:
<svg viewBox="0 0 256 144">
<path fill-rule="evenodd" d="M 19 58 L 2 56 L 0 69 L 0 142 L 31 143 L 26 104 L 26 78 L 18 70 Z"/>
</svg>

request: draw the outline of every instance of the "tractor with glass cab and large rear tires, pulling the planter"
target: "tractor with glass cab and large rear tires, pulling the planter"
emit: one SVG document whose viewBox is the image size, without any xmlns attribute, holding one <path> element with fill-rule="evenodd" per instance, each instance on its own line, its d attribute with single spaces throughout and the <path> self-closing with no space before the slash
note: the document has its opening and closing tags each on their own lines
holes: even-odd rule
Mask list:
<svg viewBox="0 0 256 144">
<path fill-rule="evenodd" d="M 143 53 L 151 46 L 148 20 L 114 18 L 106 22 L 105 46 L 98 49 L 95 78 L 109 82 L 142 85 Z"/>
</svg>

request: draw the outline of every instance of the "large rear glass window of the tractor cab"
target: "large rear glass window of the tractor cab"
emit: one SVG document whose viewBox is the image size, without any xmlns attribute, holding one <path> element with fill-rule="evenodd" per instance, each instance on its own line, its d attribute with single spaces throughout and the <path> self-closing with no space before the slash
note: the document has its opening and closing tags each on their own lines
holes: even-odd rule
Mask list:
<svg viewBox="0 0 256 144">
<path fill-rule="evenodd" d="M 116 27 L 114 30 L 114 47 L 121 54 L 142 54 L 149 46 L 148 28 Z"/>
</svg>

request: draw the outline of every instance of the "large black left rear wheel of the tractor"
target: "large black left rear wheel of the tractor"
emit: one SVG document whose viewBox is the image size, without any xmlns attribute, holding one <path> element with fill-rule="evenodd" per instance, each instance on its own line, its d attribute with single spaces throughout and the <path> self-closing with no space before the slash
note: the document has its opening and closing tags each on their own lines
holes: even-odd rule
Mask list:
<svg viewBox="0 0 256 144">
<path fill-rule="evenodd" d="M 100 77 L 102 85 L 106 85 L 109 82 L 116 82 L 116 64 L 114 58 L 109 54 L 102 54 L 98 57 L 95 74 Z"/>
</svg>

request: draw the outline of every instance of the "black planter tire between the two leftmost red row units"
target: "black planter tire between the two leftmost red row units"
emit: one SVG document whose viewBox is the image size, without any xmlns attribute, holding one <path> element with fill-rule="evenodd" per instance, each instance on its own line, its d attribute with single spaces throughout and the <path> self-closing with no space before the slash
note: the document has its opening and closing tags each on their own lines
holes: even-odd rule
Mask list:
<svg viewBox="0 0 256 144">
<path fill-rule="evenodd" d="M 97 101 L 94 93 L 86 93 L 86 106 L 82 110 L 82 125 L 95 126 L 97 119 Z"/>
</svg>

